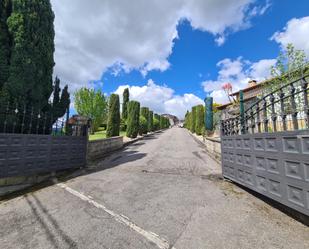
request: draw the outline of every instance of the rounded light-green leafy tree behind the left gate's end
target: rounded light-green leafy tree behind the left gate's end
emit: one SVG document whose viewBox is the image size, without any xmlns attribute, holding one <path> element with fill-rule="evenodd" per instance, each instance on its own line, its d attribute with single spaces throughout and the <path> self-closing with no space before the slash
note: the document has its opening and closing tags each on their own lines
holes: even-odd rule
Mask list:
<svg viewBox="0 0 309 249">
<path fill-rule="evenodd" d="M 81 88 L 74 94 L 74 106 L 79 115 L 91 119 L 91 132 L 98 130 L 107 115 L 107 101 L 104 94 L 98 90 Z"/>
</svg>

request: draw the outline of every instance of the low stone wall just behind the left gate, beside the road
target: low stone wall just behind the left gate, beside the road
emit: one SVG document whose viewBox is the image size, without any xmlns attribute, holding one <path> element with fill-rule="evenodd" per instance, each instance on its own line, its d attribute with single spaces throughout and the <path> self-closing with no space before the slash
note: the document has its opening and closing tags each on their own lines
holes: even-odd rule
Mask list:
<svg viewBox="0 0 309 249">
<path fill-rule="evenodd" d="M 123 147 L 123 137 L 112 137 L 88 142 L 87 160 L 103 158 L 106 154 Z"/>
</svg>

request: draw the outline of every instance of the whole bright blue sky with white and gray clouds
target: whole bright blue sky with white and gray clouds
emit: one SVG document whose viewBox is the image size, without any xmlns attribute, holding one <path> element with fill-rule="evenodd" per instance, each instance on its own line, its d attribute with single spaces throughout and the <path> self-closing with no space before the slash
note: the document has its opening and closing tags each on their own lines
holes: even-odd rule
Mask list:
<svg viewBox="0 0 309 249">
<path fill-rule="evenodd" d="M 206 96 L 269 77 L 288 43 L 309 56 L 308 0 L 51 0 L 54 74 L 73 93 L 128 87 L 132 100 L 183 118 Z M 74 98 L 72 103 L 74 109 Z"/>
</svg>

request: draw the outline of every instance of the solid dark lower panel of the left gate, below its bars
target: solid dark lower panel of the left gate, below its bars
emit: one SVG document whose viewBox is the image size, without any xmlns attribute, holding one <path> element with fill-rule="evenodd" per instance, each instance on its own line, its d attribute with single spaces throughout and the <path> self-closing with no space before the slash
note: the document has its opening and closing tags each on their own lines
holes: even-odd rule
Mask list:
<svg viewBox="0 0 309 249">
<path fill-rule="evenodd" d="M 86 165 L 87 136 L 0 134 L 0 178 Z"/>
</svg>

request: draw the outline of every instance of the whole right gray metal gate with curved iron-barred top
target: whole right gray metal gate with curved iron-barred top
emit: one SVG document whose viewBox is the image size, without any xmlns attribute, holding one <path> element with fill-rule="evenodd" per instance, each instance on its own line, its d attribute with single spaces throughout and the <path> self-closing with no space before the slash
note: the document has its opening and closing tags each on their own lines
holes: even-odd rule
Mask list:
<svg viewBox="0 0 309 249">
<path fill-rule="evenodd" d="M 223 176 L 309 215 L 306 77 L 221 122 Z"/>
</svg>

